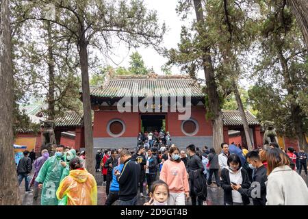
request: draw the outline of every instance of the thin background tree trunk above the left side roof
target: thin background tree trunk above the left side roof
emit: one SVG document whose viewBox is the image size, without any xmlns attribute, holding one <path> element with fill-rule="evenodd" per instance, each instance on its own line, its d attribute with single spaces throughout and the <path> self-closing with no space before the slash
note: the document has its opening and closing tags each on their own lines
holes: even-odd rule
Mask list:
<svg viewBox="0 0 308 219">
<path fill-rule="evenodd" d="M 48 119 L 55 119 L 55 61 L 53 59 L 53 40 L 51 36 L 51 23 L 47 21 L 47 31 L 48 31 L 48 57 L 47 65 L 49 72 L 49 91 L 47 96 L 48 102 Z"/>
</svg>

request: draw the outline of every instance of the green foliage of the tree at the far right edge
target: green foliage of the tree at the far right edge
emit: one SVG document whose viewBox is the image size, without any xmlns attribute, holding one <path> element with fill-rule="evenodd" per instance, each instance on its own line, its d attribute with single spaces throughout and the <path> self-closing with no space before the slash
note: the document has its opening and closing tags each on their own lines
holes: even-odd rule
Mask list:
<svg viewBox="0 0 308 219">
<path fill-rule="evenodd" d="M 263 3 L 254 75 L 258 83 L 249 90 L 249 99 L 258 118 L 274 121 L 280 133 L 294 137 L 300 135 L 298 127 L 307 133 L 307 49 L 285 2 Z"/>
</svg>

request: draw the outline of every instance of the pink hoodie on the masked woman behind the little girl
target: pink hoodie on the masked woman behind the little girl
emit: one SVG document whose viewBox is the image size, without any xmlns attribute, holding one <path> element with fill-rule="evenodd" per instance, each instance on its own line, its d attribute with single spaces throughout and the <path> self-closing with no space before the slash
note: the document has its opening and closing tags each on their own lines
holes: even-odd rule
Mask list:
<svg viewBox="0 0 308 219">
<path fill-rule="evenodd" d="M 169 191 L 174 193 L 190 192 L 185 164 L 166 160 L 162 166 L 159 179 L 165 181 Z"/>
</svg>

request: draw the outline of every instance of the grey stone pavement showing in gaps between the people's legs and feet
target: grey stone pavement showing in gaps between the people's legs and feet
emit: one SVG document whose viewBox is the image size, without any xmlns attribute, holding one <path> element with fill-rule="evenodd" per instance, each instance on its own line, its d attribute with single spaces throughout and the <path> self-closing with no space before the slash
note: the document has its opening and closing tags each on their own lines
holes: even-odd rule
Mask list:
<svg viewBox="0 0 308 219">
<path fill-rule="evenodd" d="M 32 176 L 32 175 L 31 175 Z M 302 172 L 302 177 L 305 180 L 306 184 L 308 185 L 308 177 L 305 176 L 305 173 Z M 103 186 L 103 176 L 101 175 L 101 172 L 97 172 L 95 175 L 95 179 L 97 179 L 97 196 L 98 196 L 98 205 L 104 205 L 106 201 L 106 189 L 105 186 Z M 37 201 L 33 200 L 33 194 L 32 192 L 25 193 L 25 181 L 21 183 L 21 186 L 19 187 L 19 190 L 21 192 L 21 197 L 23 200 L 23 205 L 40 205 L 40 197 Z M 221 188 L 209 187 L 207 186 L 207 205 L 223 205 L 223 190 Z M 146 201 L 149 201 L 149 198 L 140 198 L 138 196 L 138 202 L 137 205 L 143 205 Z M 114 203 L 114 205 L 117 205 L 118 202 Z M 191 205 L 190 200 L 186 203 L 186 205 Z"/>
</svg>

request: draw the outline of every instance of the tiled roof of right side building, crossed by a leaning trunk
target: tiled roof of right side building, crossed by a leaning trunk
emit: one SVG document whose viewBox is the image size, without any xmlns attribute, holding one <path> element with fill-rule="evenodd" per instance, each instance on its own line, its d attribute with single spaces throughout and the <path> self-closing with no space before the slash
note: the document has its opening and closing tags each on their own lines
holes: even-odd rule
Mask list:
<svg viewBox="0 0 308 219">
<path fill-rule="evenodd" d="M 251 112 L 246 110 L 245 112 L 248 125 L 260 125 L 259 121 Z M 223 110 L 222 111 L 222 120 L 224 125 L 234 125 L 234 126 L 242 126 L 242 118 L 240 111 L 238 110 Z"/>
</svg>

